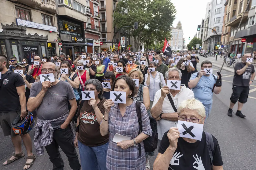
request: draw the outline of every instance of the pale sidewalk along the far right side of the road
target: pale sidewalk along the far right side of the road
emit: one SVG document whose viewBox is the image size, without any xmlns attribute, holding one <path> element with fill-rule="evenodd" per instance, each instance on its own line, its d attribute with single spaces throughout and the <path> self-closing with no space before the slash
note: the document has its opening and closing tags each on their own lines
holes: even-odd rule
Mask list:
<svg viewBox="0 0 256 170">
<path fill-rule="evenodd" d="M 221 68 L 221 66 L 222 66 L 222 64 L 223 64 L 223 62 L 224 62 L 223 57 L 220 58 L 220 55 L 218 55 L 217 61 L 215 60 L 215 59 L 216 59 L 216 56 L 214 56 L 214 57 L 213 57 L 213 56 L 202 57 L 202 56 L 200 56 L 200 55 L 197 55 L 197 56 L 198 56 L 198 58 L 199 58 L 199 63 L 201 63 L 200 61 L 209 60 L 210 62 L 212 62 L 213 66 L 219 67 L 219 68 Z M 235 73 L 235 70 L 234 70 L 233 66 L 231 65 L 230 67 L 228 67 L 228 66 L 227 66 L 227 63 L 224 63 L 222 69 L 223 69 L 223 70 L 226 70 L 226 71 L 230 71 L 230 72 L 232 72 L 232 73 Z M 256 76 L 255 76 L 254 80 L 256 80 Z"/>
</svg>

